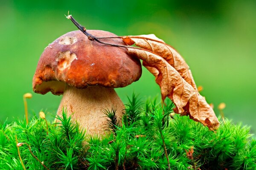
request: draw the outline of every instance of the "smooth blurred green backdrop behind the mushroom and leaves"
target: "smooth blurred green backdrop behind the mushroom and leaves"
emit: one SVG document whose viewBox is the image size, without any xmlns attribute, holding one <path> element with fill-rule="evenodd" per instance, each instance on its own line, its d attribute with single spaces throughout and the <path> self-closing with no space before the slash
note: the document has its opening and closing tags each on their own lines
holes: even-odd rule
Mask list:
<svg viewBox="0 0 256 170">
<path fill-rule="evenodd" d="M 58 108 L 61 96 L 32 92 L 32 77 L 44 48 L 76 27 L 67 11 L 87 29 L 117 35 L 155 34 L 185 58 L 209 103 L 225 102 L 225 116 L 256 132 L 255 0 L 1 0 L 0 120 L 23 118 L 23 94 L 30 115 Z M 116 89 L 127 102 L 133 92 L 154 98 L 160 89 L 143 69 L 138 82 Z M 49 116 L 50 117 L 50 116 Z"/>
</svg>

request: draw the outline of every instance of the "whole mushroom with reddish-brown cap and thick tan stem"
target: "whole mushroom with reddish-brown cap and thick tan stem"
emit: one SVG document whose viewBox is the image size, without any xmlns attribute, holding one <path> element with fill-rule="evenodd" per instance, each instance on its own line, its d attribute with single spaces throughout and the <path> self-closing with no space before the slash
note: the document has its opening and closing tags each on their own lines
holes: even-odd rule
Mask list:
<svg viewBox="0 0 256 170">
<path fill-rule="evenodd" d="M 96 37 L 116 37 L 107 31 L 87 30 Z M 105 42 L 125 45 L 120 39 Z M 126 48 L 90 41 L 81 31 L 62 35 L 45 48 L 33 77 L 38 94 L 63 94 L 57 115 L 63 108 L 89 135 L 105 134 L 102 109 L 116 108 L 122 118 L 124 105 L 113 88 L 140 79 L 141 63 Z"/>
</svg>

